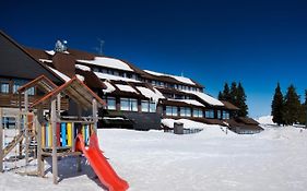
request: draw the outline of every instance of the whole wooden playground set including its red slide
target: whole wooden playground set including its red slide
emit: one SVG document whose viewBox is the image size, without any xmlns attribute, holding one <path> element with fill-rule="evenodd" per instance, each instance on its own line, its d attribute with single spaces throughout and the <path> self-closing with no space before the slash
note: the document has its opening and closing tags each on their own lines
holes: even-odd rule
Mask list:
<svg viewBox="0 0 307 191">
<path fill-rule="evenodd" d="M 32 87 L 45 93 L 34 103 L 28 102 L 27 91 Z M 14 171 L 43 178 L 50 170 L 54 183 L 58 184 L 66 178 L 59 174 L 59 169 L 63 170 L 59 166 L 60 162 L 73 157 L 74 163 L 70 164 L 80 172 L 85 157 L 102 188 L 110 191 L 129 188 L 127 181 L 115 172 L 98 146 L 97 112 L 105 104 L 83 82 L 74 77 L 57 86 L 42 75 L 20 87 L 17 92 L 17 110 L 0 108 L 1 172 Z M 75 106 L 76 115 L 67 115 L 63 103 L 69 103 L 69 107 Z M 13 119 L 15 124 L 8 122 L 9 119 Z M 49 169 L 46 169 L 46 163 L 50 164 Z"/>
</svg>

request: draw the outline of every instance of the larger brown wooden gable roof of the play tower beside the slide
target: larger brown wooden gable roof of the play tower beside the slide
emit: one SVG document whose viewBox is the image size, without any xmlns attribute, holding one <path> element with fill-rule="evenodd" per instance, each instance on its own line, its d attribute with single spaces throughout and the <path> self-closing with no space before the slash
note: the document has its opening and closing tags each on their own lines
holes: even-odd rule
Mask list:
<svg viewBox="0 0 307 191">
<path fill-rule="evenodd" d="M 76 76 L 71 79 L 69 82 L 59 86 L 55 91 L 50 92 L 43 98 L 38 99 L 31 107 L 36 107 L 40 104 L 45 104 L 55 99 L 56 96 L 60 93 L 66 94 L 76 104 L 79 104 L 83 109 L 91 109 L 92 102 L 95 98 L 97 100 L 98 107 L 103 107 L 105 103 L 101 97 L 98 97 L 94 92 L 92 92 L 83 82 L 81 82 Z"/>
</svg>

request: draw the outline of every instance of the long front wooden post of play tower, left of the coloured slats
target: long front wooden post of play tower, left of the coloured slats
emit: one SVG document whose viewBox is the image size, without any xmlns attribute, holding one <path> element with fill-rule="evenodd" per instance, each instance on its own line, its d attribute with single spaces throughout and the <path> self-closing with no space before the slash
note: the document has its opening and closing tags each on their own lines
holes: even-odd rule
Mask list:
<svg viewBox="0 0 307 191">
<path fill-rule="evenodd" d="M 57 157 L 57 99 L 51 100 L 51 127 L 52 127 L 52 174 L 54 183 L 58 183 L 58 157 Z"/>
</svg>

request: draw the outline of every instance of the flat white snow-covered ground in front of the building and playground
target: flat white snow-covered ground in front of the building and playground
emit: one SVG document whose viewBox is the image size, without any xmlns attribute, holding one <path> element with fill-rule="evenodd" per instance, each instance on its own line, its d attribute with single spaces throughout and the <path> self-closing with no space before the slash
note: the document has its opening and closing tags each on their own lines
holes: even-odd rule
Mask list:
<svg viewBox="0 0 307 191">
<path fill-rule="evenodd" d="M 208 126 L 196 134 L 98 130 L 99 144 L 129 190 L 293 191 L 307 188 L 307 130 L 270 128 L 253 135 Z M 0 190 L 102 190 L 85 159 L 60 160 L 62 180 L 0 174 Z M 47 165 L 46 167 L 49 167 Z"/>
</svg>

